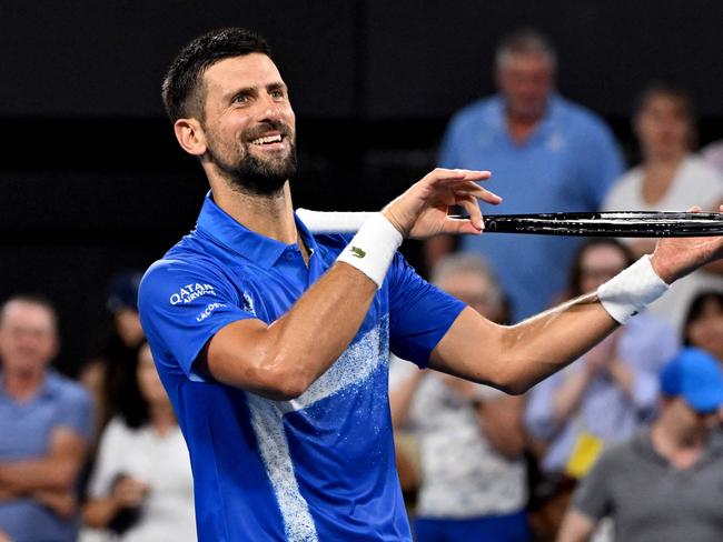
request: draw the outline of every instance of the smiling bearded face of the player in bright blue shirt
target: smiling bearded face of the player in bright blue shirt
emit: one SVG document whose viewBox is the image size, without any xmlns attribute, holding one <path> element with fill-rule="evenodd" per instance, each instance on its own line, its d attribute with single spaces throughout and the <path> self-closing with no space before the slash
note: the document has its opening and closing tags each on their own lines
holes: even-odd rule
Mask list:
<svg viewBox="0 0 723 542">
<path fill-rule="evenodd" d="M 296 119 L 276 64 L 251 53 L 204 74 L 207 158 L 235 188 L 277 193 L 296 173 Z"/>
</svg>

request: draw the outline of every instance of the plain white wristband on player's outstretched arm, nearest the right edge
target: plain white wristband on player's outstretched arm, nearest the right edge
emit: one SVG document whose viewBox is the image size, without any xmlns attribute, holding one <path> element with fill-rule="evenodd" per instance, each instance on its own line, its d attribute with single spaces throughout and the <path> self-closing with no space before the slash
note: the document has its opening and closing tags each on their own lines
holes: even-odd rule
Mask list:
<svg viewBox="0 0 723 542">
<path fill-rule="evenodd" d="M 613 319 L 625 323 L 668 288 L 653 269 L 650 255 L 645 254 L 602 284 L 597 289 L 597 299 Z"/>
</svg>

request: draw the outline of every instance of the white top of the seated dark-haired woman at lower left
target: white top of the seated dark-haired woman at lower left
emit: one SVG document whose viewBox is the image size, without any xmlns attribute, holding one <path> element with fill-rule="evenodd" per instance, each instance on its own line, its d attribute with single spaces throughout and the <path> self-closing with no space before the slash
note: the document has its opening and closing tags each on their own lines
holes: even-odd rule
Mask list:
<svg viewBox="0 0 723 542">
<path fill-rule="evenodd" d="M 85 530 L 80 542 L 196 542 L 191 465 L 178 426 L 161 436 L 149 425 L 133 430 L 118 418 L 111 420 L 100 440 L 89 495 L 108 495 L 118 474 L 150 485 L 138 523 L 120 538 Z"/>
</svg>

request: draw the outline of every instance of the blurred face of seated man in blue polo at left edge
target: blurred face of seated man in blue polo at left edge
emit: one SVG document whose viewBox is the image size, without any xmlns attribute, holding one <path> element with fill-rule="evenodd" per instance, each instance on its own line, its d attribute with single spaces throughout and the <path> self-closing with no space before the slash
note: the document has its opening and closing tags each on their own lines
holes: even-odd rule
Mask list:
<svg viewBox="0 0 723 542">
<path fill-rule="evenodd" d="M 55 317 L 40 304 L 11 301 L 0 318 L 0 360 L 3 371 L 32 374 L 44 370 L 56 354 Z"/>
</svg>

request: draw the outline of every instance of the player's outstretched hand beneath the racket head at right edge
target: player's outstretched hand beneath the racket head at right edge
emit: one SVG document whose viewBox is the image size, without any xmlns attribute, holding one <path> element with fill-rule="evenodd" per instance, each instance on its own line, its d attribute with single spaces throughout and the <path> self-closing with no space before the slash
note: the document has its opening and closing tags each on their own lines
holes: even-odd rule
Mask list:
<svg viewBox="0 0 723 542">
<path fill-rule="evenodd" d="M 689 212 L 701 212 L 701 208 L 693 207 Z M 651 263 L 657 275 L 671 284 L 720 258 L 723 258 L 723 237 L 664 238 L 655 244 Z"/>
</svg>

